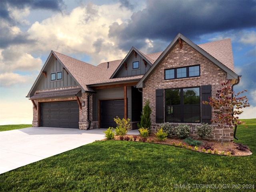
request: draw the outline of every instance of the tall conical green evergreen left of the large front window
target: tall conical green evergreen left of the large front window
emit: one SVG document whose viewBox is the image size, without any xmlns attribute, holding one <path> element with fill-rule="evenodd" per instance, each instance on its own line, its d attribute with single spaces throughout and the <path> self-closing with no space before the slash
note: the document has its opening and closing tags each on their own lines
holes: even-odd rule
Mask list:
<svg viewBox="0 0 256 192">
<path fill-rule="evenodd" d="M 141 113 L 140 116 L 140 123 L 137 123 L 138 128 L 148 128 L 149 133 L 151 129 L 151 118 L 150 114 L 152 112 L 152 109 L 149 106 L 149 100 L 146 101 L 144 107 L 143 107 L 143 112 Z"/>
</svg>

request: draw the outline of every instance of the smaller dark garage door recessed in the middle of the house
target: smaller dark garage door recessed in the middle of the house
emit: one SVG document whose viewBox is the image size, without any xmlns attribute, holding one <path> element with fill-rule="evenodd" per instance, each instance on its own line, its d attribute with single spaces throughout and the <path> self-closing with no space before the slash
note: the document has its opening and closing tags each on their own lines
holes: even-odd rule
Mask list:
<svg viewBox="0 0 256 192">
<path fill-rule="evenodd" d="M 116 127 L 114 118 L 124 118 L 124 100 L 100 101 L 100 128 Z"/>
</svg>

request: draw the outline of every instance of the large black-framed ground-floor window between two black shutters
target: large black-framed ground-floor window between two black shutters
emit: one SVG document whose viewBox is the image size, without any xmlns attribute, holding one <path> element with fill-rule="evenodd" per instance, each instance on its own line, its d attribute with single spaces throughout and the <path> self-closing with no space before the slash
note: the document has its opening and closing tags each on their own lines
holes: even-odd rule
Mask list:
<svg viewBox="0 0 256 192">
<path fill-rule="evenodd" d="M 200 88 L 165 90 L 166 122 L 200 122 Z"/>
</svg>

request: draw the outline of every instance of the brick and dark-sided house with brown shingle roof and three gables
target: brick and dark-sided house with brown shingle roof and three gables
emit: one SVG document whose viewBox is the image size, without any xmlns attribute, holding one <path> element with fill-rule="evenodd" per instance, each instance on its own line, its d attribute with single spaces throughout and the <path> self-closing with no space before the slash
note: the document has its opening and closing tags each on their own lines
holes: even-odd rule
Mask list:
<svg viewBox="0 0 256 192">
<path fill-rule="evenodd" d="M 202 101 L 227 80 L 239 82 L 230 39 L 196 45 L 178 34 L 164 52 L 144 54 L 132 47 L 122 60 L 98 66 L 52 51 L 27 97 L 34 127 L 108 128 L 118 116 L 130 118 L 135 129 L 149 99 L 153 129 L 184 122 L 193 136 L 196 125 L 214 116 Z M 213 139 L 221 135 L 216 127 Z M 233 139 L 232 127 L 224 139 Z"/>
</svg>

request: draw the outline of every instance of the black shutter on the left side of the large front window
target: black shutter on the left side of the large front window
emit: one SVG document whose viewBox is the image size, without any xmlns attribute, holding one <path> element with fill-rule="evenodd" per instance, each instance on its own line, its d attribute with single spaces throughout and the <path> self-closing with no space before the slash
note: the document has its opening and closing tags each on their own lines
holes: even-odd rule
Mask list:
<svg viewBox="0 0 256 192">
<path fill-rule="evenodd" d="M 164 122 L 164 90 L 156 90 L 156 123 Z"/>
</svg>

